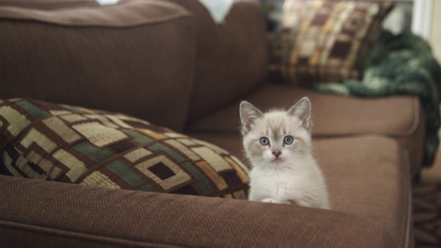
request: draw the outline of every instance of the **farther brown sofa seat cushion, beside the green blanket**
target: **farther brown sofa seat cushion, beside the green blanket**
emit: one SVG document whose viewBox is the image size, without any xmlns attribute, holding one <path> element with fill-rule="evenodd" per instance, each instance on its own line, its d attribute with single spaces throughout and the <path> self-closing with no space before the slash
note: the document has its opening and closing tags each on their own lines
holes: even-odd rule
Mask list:
<svg viewBox="0 0 441 248">
<path fill-rule="evenodd" d="M 417 96 L 356 98 L 287 85 L 263 85 L 241 100 L 249 101 L 260 110 L 288 109 L 303 96 L 311 100 L 314 137 L 390 136 L 400 141 L 409 152 L 412 174 L 418 171 L 422 163 L 425 124 L 422 121 L 424 111 Z M 239 102 L 190 123 L 187 132 L 238 133 Z"/>
</svg>

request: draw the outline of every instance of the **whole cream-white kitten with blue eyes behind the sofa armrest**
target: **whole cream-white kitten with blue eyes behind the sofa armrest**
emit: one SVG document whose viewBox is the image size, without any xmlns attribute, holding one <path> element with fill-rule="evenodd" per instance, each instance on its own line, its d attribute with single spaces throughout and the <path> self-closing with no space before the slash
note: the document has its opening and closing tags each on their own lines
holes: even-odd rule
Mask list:
<svg viewBox="0 0 441 248">
<path fill-rule="evenodd" d="M 311 154 L 311 103 L 263 114 L 240 103 L 243 146 L 252 169 L 249 200 L 329 209 L 325 178 Z"/>
</svg>

